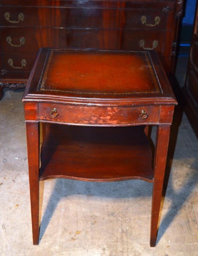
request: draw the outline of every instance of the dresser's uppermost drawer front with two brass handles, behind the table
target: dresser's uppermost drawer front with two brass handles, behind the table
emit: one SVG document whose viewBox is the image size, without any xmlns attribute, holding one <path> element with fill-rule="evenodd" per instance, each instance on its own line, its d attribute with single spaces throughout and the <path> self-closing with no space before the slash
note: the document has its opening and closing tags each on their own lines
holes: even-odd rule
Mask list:
<svg viewBox="0 0 198 256">
<path fill-rule="evenodd" d="M 2 26 L 64 27 L 64 28 L 125 28 L 147 30 L 172 29 L 173 2 L 130 3 L 91 2 L 91 6 L 61 7 L 1 7 Z"/>
</svg>

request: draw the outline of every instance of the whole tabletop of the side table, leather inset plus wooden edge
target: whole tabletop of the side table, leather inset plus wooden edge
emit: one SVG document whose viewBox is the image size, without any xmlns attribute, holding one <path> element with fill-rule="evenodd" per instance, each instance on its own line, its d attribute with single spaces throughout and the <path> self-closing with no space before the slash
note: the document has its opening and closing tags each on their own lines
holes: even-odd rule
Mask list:
<svg viewBox="0 0 198 256">
<path fill-rule="evenodd" d="M 39 51 L 23 101 L 176 103 L 158 56 L 152 51 L 50 48 Z"/>
</svg>

